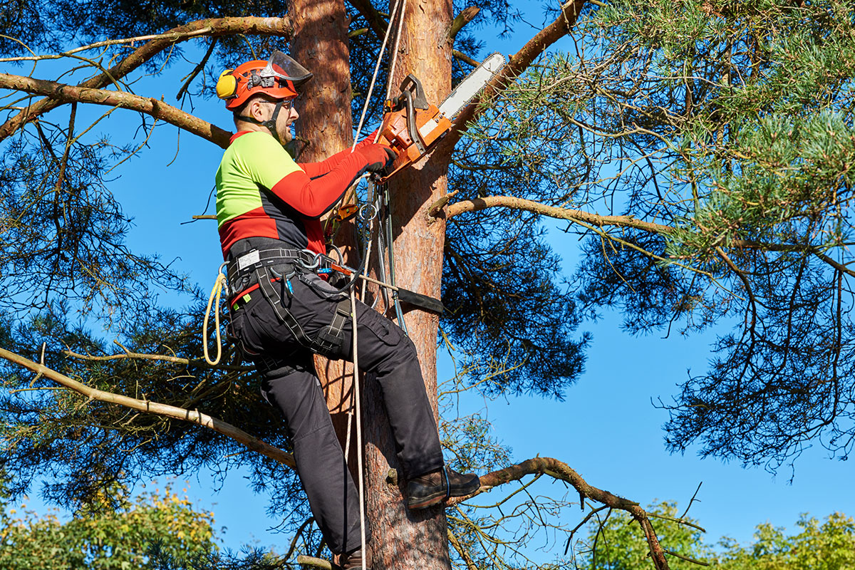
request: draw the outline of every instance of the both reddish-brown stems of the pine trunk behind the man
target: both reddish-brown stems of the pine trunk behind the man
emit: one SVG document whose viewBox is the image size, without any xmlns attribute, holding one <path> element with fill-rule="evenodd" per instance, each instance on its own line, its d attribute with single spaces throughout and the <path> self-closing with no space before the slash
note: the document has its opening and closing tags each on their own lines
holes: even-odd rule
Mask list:
<svg viewBox="0 0 855 570">
<path fill-rule="evenodd" d="M 408 0 L 392 85 L 397 88 L 407 73 L 414 73 L 434 103 L 451 91 L 451 44 L 447 38 L 451 14 L 451 0 Z M 292 0 L 291 15 L 292 56 L 315 73 L 298 108 L 301 115 L 298 135 L 310 143 L 300 160 L 309 162 L 343 150 L 352 140 L 345 6 L 341 0 Z M 390 56 L 386 57 L 387 62 L 391 61 Z M 447 156 L 432 156 L 429 162 L 422 161 L 400 173 L 389 188 L 398 285 L 438 298 L 445 222 L 428 216 L 427 209 L 445 194 L 447 163 Z M 419 353 L 428 397 L 436 415 L 439 319 L 414 310 L 406 315 L 406 324 Z M 341 432 L 346 417 L 343 412 L 350 397 L 350 379 L 337 363 L 317 363 L 327 392 L 327 405 Z M 395 446 L 377 386 L 371 382 L 363 382 L 363 386 L 366 515 L 374 535 L 371 567 L 373 570 L 449 568 L 445 511 L 431 508 L 410 512 L 404 506 L 398 486 L 387 482 L 389 468 L 398 469 Z M 405 483 L 401 478 L 399 484 L 403 487 Z"/>
</svg>

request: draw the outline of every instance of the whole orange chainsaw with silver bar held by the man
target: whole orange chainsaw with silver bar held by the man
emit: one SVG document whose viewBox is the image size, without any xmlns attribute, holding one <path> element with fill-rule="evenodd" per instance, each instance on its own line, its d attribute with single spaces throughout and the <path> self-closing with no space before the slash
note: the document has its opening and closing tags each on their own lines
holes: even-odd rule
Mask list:
<svg viewBox="0 0 855 570">
<path fill-rule="evenodd" d="M 451 131 L 460 112 L 504 67 L 504 56 L 494 53 L 463 79 L 439 107 L 428 103 L 422 82 L 410 73 L 401 83 L 401 94 L 383 103 L 383 122 L 377 142 L 392 147 L 398 157 L 391 171 L 380 178 L 386 182 L 399 170 L 428 154 Z"/>
</svg>

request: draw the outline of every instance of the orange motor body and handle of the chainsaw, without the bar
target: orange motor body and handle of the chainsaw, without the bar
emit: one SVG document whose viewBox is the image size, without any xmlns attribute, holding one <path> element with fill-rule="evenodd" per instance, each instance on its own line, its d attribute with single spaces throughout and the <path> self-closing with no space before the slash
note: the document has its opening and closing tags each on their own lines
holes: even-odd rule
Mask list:
<svg viewBox="0 0 855 570">
<path fill-rule="evenodd" d="M 383 103 L 383 111 L 377 142 L 392 147 L 398 158 L 392 162 L 392 172 L 380 182 L 428 154 L 433 144 L 451 130 L 451 120 L 436 105 L 428 103 L 422 84 L 413 75 L 404 79 L 401 95 Z"/>
</svg>

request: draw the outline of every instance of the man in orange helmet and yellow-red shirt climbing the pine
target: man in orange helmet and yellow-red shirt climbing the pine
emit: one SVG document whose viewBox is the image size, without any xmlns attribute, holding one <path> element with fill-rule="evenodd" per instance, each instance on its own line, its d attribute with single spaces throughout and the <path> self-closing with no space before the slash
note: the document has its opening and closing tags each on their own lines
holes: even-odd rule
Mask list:
<svg viewBox="0 0 855 570">
<path fill-rule="evenodd" d="M 380 383 L 409 508 L 478 490 L 475 474 L 445 467 L 416 348 L 391 320 L 315 273 L 329 264 L 321 215 L 365 172 L 395 152 L 366 138 L 323 162 L 294 162 L 283 148 L 298 119 L 294 100 L 312 77 L 280 51 L 223 72 L 217 96 L 237 132 L 216 173 L 217 224 L 233 335 L 262 375 L 262 395 L 285 415 L 297 472 L 339 566 L 362 567 L 359 499 L 333 431 L 312 354 L 352 361 L 356 311 L 360 367 Z M 358 419 L 357 419 L 358 421 Z M 361 452 L 361 450 L 359 450 Z"/>
</svg>

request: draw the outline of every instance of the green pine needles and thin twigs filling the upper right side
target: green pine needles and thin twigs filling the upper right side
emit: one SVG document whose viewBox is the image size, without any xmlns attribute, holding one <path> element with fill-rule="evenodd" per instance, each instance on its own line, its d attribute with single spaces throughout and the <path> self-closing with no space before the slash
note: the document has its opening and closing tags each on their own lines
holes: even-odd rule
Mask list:
<svg viewBox="0 0 855 570">
<path fill-rule="evenodd" d="M 585 13 L 574 38 L 470 129 L 455 189 L 620 216 L 568 223 L 584 242 L 576 314 L 616 309 L 638 333 L 733 326 L 709 369 L 662 403 L 670 450 L 699 445 L 770 471 L 811 440 L 846 457 L 855 10 L 620 0 Z M 452 235 L 501 215 L 459 216 Z M 460 247 L 475 259 L 504 244 L 472 233 L 485 238 Z M 512 267 L 531 266 L 518 256 Z"/>
</svg>

